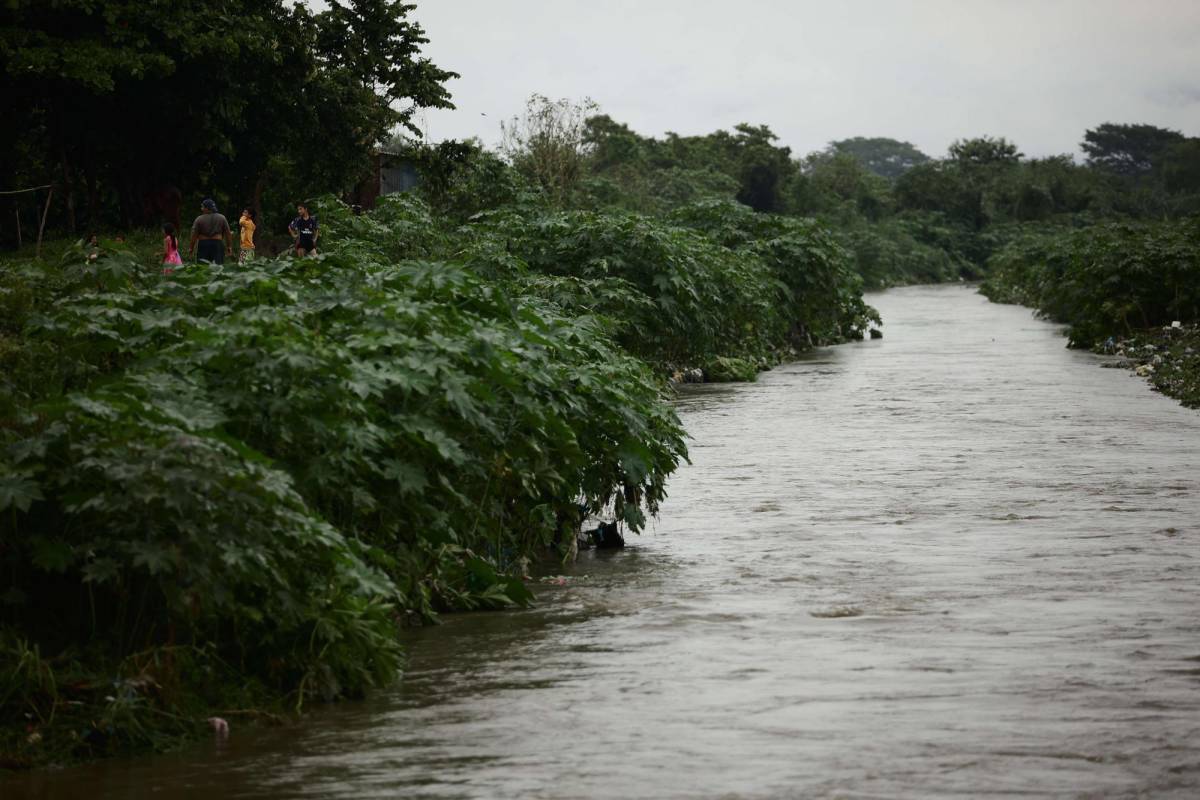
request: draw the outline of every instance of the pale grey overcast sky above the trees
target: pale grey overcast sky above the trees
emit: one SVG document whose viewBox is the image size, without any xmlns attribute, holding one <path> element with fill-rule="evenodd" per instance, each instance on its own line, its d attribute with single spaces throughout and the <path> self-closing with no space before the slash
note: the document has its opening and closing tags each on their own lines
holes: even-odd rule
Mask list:
<svg viewBox="0 0 1200 800">
<path fill-rule="evenodd" d="M 493 145 L 533 92 L 649 136 L 766 124 L 796 155 L 980 134 L 1076 152 L 1105 121 L 1200 136 L 1200 0 L 415 1 L 425 54 L 462 74 L 457 110 L 419 118 L 432 140 Z"/>
</svg>

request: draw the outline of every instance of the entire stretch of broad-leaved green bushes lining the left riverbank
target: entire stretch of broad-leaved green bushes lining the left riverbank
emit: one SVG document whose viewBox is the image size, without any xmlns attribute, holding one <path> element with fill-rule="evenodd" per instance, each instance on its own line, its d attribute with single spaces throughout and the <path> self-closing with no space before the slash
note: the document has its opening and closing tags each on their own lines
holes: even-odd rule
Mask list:
<svg viewBox="0 0 1200 800">
<path fill-rule="evenodd" d="M 667 369 L 878 323 L 811 222 L 527 199 L 328 199 L 305 260 L 4 265 L 7 765 L 386 684 L 401 625 L 530 602 L 582 513 L 646 524 L 686 457 Z"/>
</svg>

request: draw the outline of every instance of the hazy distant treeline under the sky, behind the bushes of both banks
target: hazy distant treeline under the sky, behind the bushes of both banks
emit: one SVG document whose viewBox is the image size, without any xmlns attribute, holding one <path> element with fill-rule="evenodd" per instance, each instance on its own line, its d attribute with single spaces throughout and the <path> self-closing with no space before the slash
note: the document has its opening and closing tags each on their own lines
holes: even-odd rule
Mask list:
<svg viewBox="0 0 1200 800">
<path fill-rule="evenodd" d="M 1028 224 L 1076 229 L 1200 211 L 1200 139 L 1151 125 L 1085 131 L 1082 164 L 1026 158 L 989 136 L 958 140 L 941 158 L 863 137 L 796 157 L 766 126 L 652 138 L 598 110 L 535 96 L 506 126 L 502 150 L 560 205 L 660 215 L 727 198 L 816 217 L 869 287 L 980 277 Z"/>
</svg>

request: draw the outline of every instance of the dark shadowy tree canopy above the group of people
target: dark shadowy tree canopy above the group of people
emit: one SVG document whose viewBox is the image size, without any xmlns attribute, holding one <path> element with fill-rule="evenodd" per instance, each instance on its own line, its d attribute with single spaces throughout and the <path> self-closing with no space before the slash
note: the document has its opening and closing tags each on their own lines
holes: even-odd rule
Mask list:
<svg viewBox="0 0 1200 800">
<path fill-rule="evenodd" d="M 161 218 L 168 187 L 241 194 L 272 162 L 313 191 L 346 187 L 416 108 L 448 107 L 454 73 L 395 0 L 8 0 L 2 140 L 48 157 L 68 204 L 88 187 L 126 223 Z"/>
</svg>

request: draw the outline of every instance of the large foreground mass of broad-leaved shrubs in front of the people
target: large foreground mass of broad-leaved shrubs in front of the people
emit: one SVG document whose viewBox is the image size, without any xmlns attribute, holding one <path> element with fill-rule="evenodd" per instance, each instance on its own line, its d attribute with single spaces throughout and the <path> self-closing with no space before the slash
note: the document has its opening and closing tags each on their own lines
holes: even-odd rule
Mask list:
<svg viewBox="0 0 1200 800">
<path fill-rule="evenodd" d="M 658 509 L 683 432 L 608 324 L 568 309 L 589 284 L 406 258 L 445 248 L 414 198 L 323 206 L 316 259 L 161 276 L 76 249 L 2 272 L 13 652 L 142 680 L 132 652 L 187 648 L 206 666 L 160 658 L 154 685 L 234 664 L 296 703 L 360 693 L 398 669 L 400 613 L 526 603 L 581 505 L 635 530 Z M 0 717 L 59 708 L 43 678 L 14 676 Z M 113 724 L 179 697 L 138 690 Z"/>
</svg>

